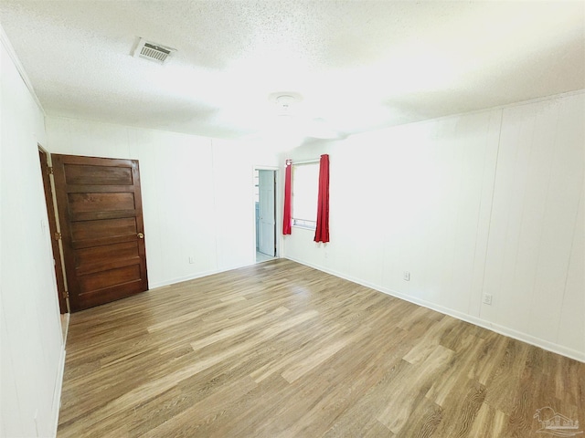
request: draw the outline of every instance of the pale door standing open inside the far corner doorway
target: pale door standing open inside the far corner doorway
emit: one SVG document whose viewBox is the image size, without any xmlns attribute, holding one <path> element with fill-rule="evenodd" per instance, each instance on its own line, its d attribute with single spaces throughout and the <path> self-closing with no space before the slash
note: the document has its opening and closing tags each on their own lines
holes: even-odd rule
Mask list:
<svg viewBox="0 0 585 438">
<path fill-rule="evenodd" d="M 274 171 L 258 171 L 259 189 L 259 250 L 265 255 L 276 255 L 276 219 L 274 205 Z"/>
</svg>

